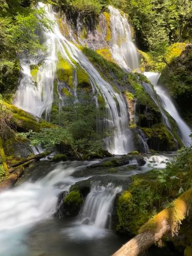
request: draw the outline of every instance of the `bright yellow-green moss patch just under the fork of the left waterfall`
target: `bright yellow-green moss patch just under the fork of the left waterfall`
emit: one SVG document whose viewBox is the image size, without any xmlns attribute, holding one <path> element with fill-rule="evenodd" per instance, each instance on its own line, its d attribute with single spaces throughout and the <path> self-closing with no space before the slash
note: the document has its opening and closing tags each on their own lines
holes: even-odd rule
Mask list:
<svg viewBox="0 0 192 256">
<path fill-rule="evenodd" d="M 56 78 L 59 81 L 67 82 L 73 88 L 73 67 L 68 60 L 62 58 L 60 53 L 58 53 Z"/>
</svg>

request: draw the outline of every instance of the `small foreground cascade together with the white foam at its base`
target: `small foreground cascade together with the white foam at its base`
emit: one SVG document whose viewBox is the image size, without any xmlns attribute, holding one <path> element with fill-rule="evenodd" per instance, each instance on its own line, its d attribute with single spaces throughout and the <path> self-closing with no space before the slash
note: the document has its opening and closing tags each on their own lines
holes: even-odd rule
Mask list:
<svg viewBox="0 0 192 256">
<path fill-rule="evenodd" d="M 74 240 L 108 236 L 113 203 L 116 195 L 121 191 L 121 186 L 115 186 L 112 183 L 106 186 L 93 184 L 77 217 L 78 220 L 74 226 L 64 229 L 63 233 Z"/>
</svg>

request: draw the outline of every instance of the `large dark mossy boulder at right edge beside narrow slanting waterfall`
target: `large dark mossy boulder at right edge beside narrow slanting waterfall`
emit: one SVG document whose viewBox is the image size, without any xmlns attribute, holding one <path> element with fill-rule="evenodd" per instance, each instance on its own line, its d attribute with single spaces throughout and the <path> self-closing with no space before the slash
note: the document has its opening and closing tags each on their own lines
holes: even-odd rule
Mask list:
<svg viewBox="0 0 192 256">
<path fill-rule="evenodd" d="M 173 59 L 163 70 L 161 82 L 168 88 L 175 98 L 181 115 L 185 121 L 192 125 L 192 47 L 188 46 L 185 51 Z"/>
</svg>

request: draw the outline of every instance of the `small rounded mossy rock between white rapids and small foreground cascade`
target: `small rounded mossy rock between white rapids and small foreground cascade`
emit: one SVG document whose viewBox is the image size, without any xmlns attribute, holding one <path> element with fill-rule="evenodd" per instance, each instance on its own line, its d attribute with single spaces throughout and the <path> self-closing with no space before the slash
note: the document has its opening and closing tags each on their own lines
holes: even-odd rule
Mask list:
<svg viewBox="0 0 192 256">
<path fill-rule="evenodd" d="M 65 204 L 65 212 L 67 216 L 76 216 L 79 213 L 83 202 L 80 191 L 71 191 L 63 200 Z"/>
</svg>

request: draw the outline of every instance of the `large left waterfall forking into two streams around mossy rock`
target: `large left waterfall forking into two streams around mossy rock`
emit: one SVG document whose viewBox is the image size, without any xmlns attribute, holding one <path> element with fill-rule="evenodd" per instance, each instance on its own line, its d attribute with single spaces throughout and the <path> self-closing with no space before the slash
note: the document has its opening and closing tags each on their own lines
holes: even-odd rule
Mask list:
<svg viewBox="0 0 192 256">
<path fill-rule="evenodd" d="M 44 7 L 46 17 L 54 25 L 52 31 L 45 32 L 48 54 L 45 62 L 37 72 L 37 87 L 32 82 L 30 74 L 30 60 L 27 60 L 27 74 L 23 72 L 23 79 L 20 82 L 17 92 L 16 105 L 30 113 L 41 116 L 44 111 L 50 113 L 53 102 L 53 84 L 56 72 L 57 52 L 63 59 L 67 60 L 73 69 L 80 66 L 89 75 L 92 91 L 101 94 L 106 106 L 103 129 L 113 136 L 106 139 L 106 149 L 112 154 L 126 154 L 133 151 L 133 139 L 129 130 L 127 118 L 127 107 L 121 93 L 116 92 L 112 84 L 105 81 L 89 59 L 59 30 L 56 14 L 50 5 L 38 4 Z M 26 63 L 25 62 L 25 63 Z M 23 69 L 24 70 L 24 69 Z M 76 72 L 74 72 L 76 73 Z M 76 79 L 74 79 L 75 81 Z M 74 82 L 74 91 L 77 84 Z M 76 92 L 75 92 L 76 94 Z M 30 98 L 30 100 L 28 99 Z"/>
</svg>

